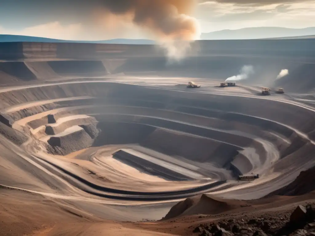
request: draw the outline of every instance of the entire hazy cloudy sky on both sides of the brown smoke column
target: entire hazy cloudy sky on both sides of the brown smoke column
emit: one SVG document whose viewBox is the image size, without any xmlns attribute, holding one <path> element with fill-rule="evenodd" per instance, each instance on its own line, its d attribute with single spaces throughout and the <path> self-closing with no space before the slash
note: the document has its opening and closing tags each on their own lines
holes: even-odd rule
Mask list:
<svg viewBox="0 0 315 236">
<path fill-rule="evenodd" d="M 0 34 L 77 40 L 152 37 L 150 31 L 135 25 L 130 16 L 106 11 L 108 6 L 112 12 L 129 8 L 137 1 L 0 0 Z M 315 0 L 196 0 L 194 6 L 189 13 L 183 11 L 196 18 L 201 32 L 257 26 L 315 26 Z"/>
</svg>

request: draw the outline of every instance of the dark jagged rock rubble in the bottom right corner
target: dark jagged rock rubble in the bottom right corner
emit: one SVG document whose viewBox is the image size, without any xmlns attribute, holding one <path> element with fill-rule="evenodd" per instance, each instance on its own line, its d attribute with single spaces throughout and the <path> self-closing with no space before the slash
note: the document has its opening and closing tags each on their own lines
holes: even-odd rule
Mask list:
<svg viewBox="0 0 315 236">
<path fill-rule="evenodd" d="M 202 223 L 192 233 L 199 236 L 315 235 L 315 205 L 298 205 L 293 212 L 282 214 L 266 213 L 260 217 L 244 214 L 234 219 Z"/>
</svg>

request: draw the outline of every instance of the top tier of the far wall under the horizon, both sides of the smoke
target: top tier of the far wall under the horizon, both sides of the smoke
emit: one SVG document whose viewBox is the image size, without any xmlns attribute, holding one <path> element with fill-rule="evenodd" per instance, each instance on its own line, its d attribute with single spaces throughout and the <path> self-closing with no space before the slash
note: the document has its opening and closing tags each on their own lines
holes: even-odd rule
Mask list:
<svg viewBox="0 0 315 236">
<path fill-rule="evenodd" d="M 314 58 L 313 39 L 295 40 L 211 40 L 191 44 L 188 56 L 195 55 L 260 55 L 304 59 Z M 267 50 L 267 49 L 268 50 Z M 298 48 L 299 50 L 296 50 Z M 48 43 L 3 42 L 0 43 L 0 59 L 45 58 L 91 59 L 129 56 L 163 56 L 163 49 L 155 45 L 96 44 L 96 43 Z M 198 54 L 197 54 L 198 53 Z"/>
</svg>

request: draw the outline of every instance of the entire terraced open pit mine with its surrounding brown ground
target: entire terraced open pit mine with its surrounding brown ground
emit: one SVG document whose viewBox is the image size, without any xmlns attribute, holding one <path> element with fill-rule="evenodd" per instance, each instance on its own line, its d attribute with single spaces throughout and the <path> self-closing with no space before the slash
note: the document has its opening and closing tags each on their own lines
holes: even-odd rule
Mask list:
<svg viewBox="0 0 315 236">
<path fill-rule="evenodd" d="M 0 235 L 289 232 L 315 199 L 314 45 L 199 41 L 169 64 L 151 45 L 0 43 Z"/>
</svg>

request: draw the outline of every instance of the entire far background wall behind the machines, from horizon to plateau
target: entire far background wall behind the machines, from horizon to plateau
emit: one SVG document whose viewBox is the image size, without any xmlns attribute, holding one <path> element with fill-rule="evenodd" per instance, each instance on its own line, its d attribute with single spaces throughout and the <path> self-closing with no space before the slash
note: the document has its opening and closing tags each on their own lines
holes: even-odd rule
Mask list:
<svg viewBox="0 0 315 236">
<path fill-rule="evenodd" d="M 32 60 L 40 59 L 44 60 L 43 64 L 51 60 L 63 60 L 61 64 L 66 64 L 66 60 L 82 60 L 86 61 L 86 65 L 82 67 L 86 69 L 81 69 L 82 73 L 99 76 L 104 74 L 103 69 L 99 69 L 95 74 L 92 73 L 91 68 L 100 68 L 100 63 L 105 60 L 108 62 L 107 65 L 111 65 L 111 60 L 121 59 L 122 63 L 108 70 L 105 66 L 106 73 L 110 71 L 111 74 L 140 76 L 142 72 L 150 71 L 151 74 L 162 76 L 217 79 L 225 79 L 237 74 L 243 65 L 253 65 L 256 73 L 248 80 L 251 83 L 264 81 L 267 87 L 280 86 L 286 91 L 306 92 L 315 87 L 314 80 L 310 79 L 315 73 L 312 66 L 315 63 L 314 42 L 314 39 L 198 41 L 192 43 L 192 50 L 179 65 L 168 65 L 164 50 L 155 45 L 10 42 L 0 43 L 0 60 L 20 60 L 21 63 L 26 60 L 32 63 Z M 95 65 L 89 66 L 89 61 L 94 61 Z M 1 85 L 13 84 L 12 78 L 21 81 L 26 80 L 26 77 L 27 81 L 34 77 L 50 80 L 58 74 L 49 69 L 47 63 L 28 65 L 28 67 L 29 72 L 23 73 L 24 76 L 14 77 L 14 73 L 8 73 L 5 81 L 1 81 Z M 81 66 L 77 67 L 81 68 Z M 275 81 L 283 68 L 290 71 L 289 75 Z M 47 70 L 47 73 L 43 70 Z M 68 74 L 72 72 L 73 75 L 79 74 L 78 71 L 66 71 Z M 0 72 L 0 76 L 3 73 L 4 71 Z M 242 83 L 246 82 L 242 81 Z"/>
</svg>

